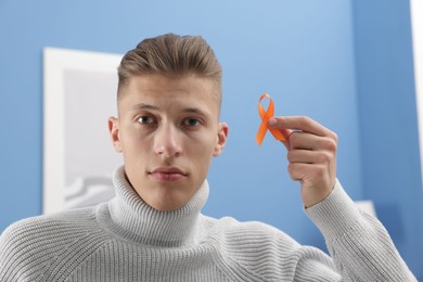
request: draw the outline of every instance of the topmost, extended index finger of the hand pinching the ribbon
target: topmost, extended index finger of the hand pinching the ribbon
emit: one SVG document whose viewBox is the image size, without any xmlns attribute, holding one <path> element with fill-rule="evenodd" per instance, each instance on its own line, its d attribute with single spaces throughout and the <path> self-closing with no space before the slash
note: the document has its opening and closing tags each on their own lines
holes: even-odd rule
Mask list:
<svg viewBox="0 0 423 282">
<path fill-rule="evenodd" d="M 302 130 L 321 137 L 333 136 L 331 130 L 307 116 L 275 116 L 269 119 L 269 126 L 279 129 Z"/>
</svg>

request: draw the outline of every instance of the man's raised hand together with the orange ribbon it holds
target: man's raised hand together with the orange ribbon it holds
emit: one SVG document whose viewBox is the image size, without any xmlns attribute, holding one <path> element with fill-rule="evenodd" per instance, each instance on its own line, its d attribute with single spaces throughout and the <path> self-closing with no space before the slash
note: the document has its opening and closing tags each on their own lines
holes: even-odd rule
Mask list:
<svg viewBox="0 0 423 282">
<path fill-rule="evenodd" d="M 258 112 L 261 125 L 256 141 L 261 144 L 267 130 L 287 149 L 287 171 L 293 180 L 302 184 L 302 198 L 305 207 L 311 207 L 324 200 L 336 182 L 335 132 L 306 116 L 275 116 L 273 101 L 270 99 L 267 111 L 261 106 Z M 270 120 L 270 123 L 269 123 Z"/>
</svg>

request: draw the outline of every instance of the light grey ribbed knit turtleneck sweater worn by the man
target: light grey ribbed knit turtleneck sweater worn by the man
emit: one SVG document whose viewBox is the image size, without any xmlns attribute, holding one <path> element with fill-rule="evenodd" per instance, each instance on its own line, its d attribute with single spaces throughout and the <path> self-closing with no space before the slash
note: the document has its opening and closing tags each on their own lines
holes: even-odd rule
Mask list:
<svg viewBox="0 0 423 282">
<path fill-rule="evenodd" d="M 306 210 L 331 257 L 260 222 L 201 214 L 205 182 L 179 209 L 145 204 L 114 174 L 116 197 L 21 220 L 0 238 L 0 281 L 416 281 L 387 232 L 337 182 Z"/>
</svg>

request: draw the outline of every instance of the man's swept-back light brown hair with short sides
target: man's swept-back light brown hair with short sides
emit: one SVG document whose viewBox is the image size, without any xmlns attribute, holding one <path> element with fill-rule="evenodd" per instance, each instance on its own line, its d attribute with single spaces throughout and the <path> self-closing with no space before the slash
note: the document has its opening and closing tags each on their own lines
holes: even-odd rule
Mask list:
<svg viewBox="0 0 423 282">
<path fill-rule="evenodd" d="M 201 36 L 166 34 L 138 43 L 120 61 L 118 100 L 129 79 L 140 75 L 162 75 L 168 78 L 196 75 L 209 78 L 216 82 L 221 102 L 221 66 L 211 47 Z"/>
</svg>

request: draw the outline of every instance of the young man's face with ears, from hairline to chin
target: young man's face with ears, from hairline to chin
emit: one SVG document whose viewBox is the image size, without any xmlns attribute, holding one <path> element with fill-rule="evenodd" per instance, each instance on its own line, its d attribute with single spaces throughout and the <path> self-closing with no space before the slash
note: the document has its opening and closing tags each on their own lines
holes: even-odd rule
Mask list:
<svg viewBox="0 0 423 282">
<path fill-rule="evenodd" d="M 228 127 L 219 123 L 214 81 L 144 75 L 120 91 L 119 117 L 111 117 L 108 128 L 129 182 L 156 209 L 182 206 L 225 146 Z"/>
</svg>

